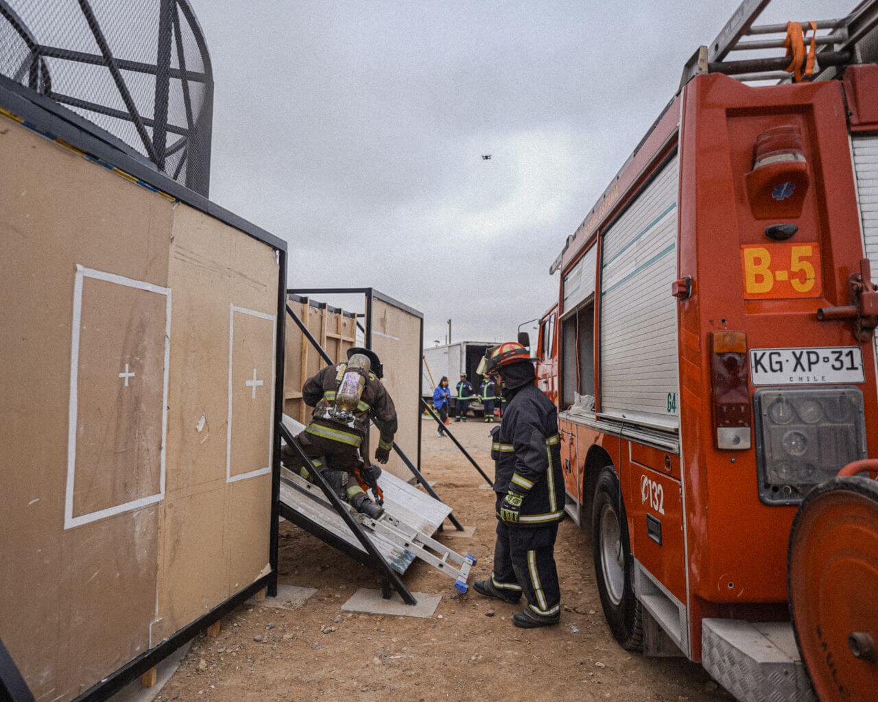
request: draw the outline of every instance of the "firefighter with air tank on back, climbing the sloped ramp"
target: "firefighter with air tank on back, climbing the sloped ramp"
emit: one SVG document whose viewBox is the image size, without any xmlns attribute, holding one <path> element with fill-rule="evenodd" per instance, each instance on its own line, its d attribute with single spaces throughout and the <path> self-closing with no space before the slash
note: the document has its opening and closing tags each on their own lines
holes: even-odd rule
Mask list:
<svg viewBox="0 0 878 702">
<path fill-rule="evenodd" d="M 381 469 L 370 465 L 368 447 L 363 444 L 369 420 L 381 433 L 375 460 L 386 463 L 396 433 L 396 408 L 381 383 L 381 361 L 368 348 L 348 349 L 348 362 L 327 366 L 308 378 L 302 388 L 305 404 L 314 408 L 311 423 L 298 441 L 317 465 L 325 464 L 329 484 L 347 498 L 357 512 L 377 518 L 384 510 L 363 490 L 375 487 Z M 284 458 L 295 456 L 287 449 Z"/>
</svg>

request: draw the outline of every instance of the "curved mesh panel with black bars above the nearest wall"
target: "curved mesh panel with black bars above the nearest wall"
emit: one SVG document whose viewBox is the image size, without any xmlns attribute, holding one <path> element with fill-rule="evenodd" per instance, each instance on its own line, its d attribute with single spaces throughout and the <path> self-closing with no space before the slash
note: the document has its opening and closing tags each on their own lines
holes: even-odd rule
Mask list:
<svg viewBox="0 0 878 702">
<path fill-rule="evenodd" d="M 208 194 L 212 68 L 187 0 L 0 0 L 0 74 Z"/>
</svg>

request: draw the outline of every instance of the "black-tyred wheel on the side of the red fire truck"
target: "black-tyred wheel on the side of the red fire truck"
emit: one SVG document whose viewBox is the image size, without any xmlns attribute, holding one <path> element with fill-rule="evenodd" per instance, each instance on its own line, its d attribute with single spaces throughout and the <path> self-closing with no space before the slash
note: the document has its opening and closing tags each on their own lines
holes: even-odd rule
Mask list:
<svg viewBox="0 0 878 702">
<path fill-rule="evenodd" d="M 634 594 L 634 559 L 625 507 L 612 467 L 601 469 L 594 486 L 592 549 L 601 605 L 622 648 L 643 649 L 643 614 Z"/>
</svg>

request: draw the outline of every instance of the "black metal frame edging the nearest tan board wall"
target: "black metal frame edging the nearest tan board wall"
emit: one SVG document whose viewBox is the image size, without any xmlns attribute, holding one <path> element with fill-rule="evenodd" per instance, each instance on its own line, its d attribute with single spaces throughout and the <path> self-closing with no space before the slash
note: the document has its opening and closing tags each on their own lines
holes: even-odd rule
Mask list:
<svg viewBox="0 0 878 702">
<path fill-rule="evenodd" d="M 2 3 L 3 0 L 0 0 Z M 183 0 L 177 0 L 183 2 Z M 0 4 L 0 10 L 3 5 Z M 74 115 L 47 97 L 40 96 L 33 90 L 0 75 L 0 107 L 11 114 L 21 118 L 24 125 L 51 140 L 63 140 L 70 146 L 76 147 L 90 158 L 104 164 L 119 168 L 129 176 L 134 176 L 148 188 L 161 190 L 181 202 L 191 205 L 195 209 L 217 218 L 228 226 L 238 229 L 255 240 L 273 248 L 277 252 L 278 280 L 277 280 L 277 318 L 276 318 L 276 349 L 275 349 L 275 426 L 283 418 L 284 407 L 284 330 L 286 309 L 286 266 L 287 244 L 283 239 L 264 231 L 234 213 L 225 210 L 219 205 L 212 203 L 206 197 L 189 190 L 180 183 L 176 183 L 155 169 L 155 165 L 146 161 L 140 154 L 133 153 L 122 142 L 111 134 L 91 124 L 88 120 Z M 2 119 L 2 118 L 0 118 Z M 176 648 L 190 641 L 199 632 L 209 627 L 215 621 L 221 619 L 228 612 L 244 600 L 252 597 L 255 593 L 267 590 L 270 595 L 277 594 L 277 496 L 280 493 L 280 435 L 274 436 L 274 455 L 271 470 L 271 496 L 270 509 L 270 572 L 259 577 L 243 590 L 234 594 L 231 598 L 214 607 L 196 620 L 191 621 L 182 629 L 169 636 L 158 645 L 150 648 L 124 666 L 116 670 L 103 680 L 93 685 L 89 690 L 79 695 L 74 702 L 100 702 L 109 698 L 126 684 L 132 682 L 143 673 L 153 668 L 162 659 L 167 657 Z M 7 654 L 8 657 L 8 654 Z M 10 659 L 11 660 L 11 659 Z M 0 683 L 11 684 L 11 667 L 4 661 L 4 651 L 0 650 Z M 0 685 L 0 691 L 3 686 Z M 13 688 L 14 689 L 14 688 Z M 20 691 L 18 691 L 20 694 Z M 27 698 L 12 698 L 14 702 L 27 700 Z M 29 702 L 29 700 L 27 700 Z"/>
</svg>

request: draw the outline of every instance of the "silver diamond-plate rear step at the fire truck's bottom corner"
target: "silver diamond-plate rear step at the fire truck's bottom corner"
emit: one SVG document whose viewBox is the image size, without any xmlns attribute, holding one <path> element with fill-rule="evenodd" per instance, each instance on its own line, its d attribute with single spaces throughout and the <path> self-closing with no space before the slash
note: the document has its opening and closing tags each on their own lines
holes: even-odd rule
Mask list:
<svg viewBox="0 0 878 702">
<path fill-rule="evenodd" d="M 702 666 L 740 702 L 817 702 L 788 621 L 702 620 Z"/>
</svg>

